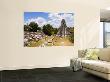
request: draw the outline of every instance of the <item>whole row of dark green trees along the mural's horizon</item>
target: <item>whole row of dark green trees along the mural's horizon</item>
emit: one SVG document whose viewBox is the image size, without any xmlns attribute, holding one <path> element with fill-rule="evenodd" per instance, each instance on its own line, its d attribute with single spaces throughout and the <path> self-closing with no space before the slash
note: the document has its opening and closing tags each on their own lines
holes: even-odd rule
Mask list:
<svg viewBox="0 0 110 82">
<path fill-rule="evenodd" d="M 74 27 L 68 27 L 68 31 L 71 35 L 74 35 Z M 24 31 L 26 32 L 43 32 L 45 35 L 51 36 L 58 33 L 59 28 L 55 28 L 50 24 L 45 24 L 42 27 L 39 27 L 37 23 L 30 22 L 27 25 L 24 25 Z"/>
</svg>

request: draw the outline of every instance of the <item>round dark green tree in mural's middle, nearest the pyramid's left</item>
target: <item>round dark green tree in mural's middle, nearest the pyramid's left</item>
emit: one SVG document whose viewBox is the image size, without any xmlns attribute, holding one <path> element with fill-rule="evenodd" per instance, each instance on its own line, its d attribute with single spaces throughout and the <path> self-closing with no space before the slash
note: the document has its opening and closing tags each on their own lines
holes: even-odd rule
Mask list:
<svg viewBox="0 0 110 82">
<path fill-rule="evenodd" d="M 51 36 L 54 34 L 54 29 L 53 29 L 52 25 L 50 25 L 50 24 L 44 25 L 42 30 L 43 30 L 44 34 L 46 34 L 48 36 Z"/>
</svg>

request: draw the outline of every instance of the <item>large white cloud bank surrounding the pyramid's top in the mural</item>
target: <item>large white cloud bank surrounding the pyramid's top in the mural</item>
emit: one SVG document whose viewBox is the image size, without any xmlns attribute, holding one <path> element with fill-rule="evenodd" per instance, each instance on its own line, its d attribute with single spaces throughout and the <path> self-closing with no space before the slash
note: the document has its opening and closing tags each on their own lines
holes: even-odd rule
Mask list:
<svg viewBox="0 0 110 82">
<path fill-rule="evenodd" d="M 49 21 L 48 23 L 53 25 L 54 27 L 59 27 L 61 24 L 61 20 L 65 19 L 66 24 L 68 27 L 73 27 L 74 26 L 74 19 L 73 19 L 73 14 L 65 13 L 65 14 L 59 14 L 59 13 L 50 13 L 48 15 Z"/>
</svg>

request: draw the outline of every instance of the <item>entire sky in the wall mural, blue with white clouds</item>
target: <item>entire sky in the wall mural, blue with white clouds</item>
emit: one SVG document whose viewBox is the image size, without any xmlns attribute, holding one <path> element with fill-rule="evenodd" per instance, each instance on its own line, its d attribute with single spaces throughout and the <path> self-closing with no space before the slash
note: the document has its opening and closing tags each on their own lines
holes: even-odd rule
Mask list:
<svg viewBox="0 0 110 82">
<path fill-rule="evenodd" d="M 62 19 L 65 19 L 68 27 L 74 26 L 74 13 L 24 12 L 24 24 L 36 22 L 40 27 L 51 24 L 58 28 Z"/>
</svg>

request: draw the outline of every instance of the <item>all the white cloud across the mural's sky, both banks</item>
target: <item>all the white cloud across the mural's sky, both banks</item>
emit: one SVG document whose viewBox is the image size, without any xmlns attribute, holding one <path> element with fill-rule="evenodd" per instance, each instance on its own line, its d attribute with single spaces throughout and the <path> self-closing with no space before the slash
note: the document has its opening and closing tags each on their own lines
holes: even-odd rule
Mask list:
<svg viewBox="0 0 110 82">
<path fill-rule="evenodd" d="M 74 18 L 73 18 L 73 14 L 69 14 L 69 13 L 49 13 L 48 14 L 48 21 L 43 18 L 43 17 L 36 17 L 36 18 L 31 18 L 28 19 L 25 24 L 29 24 L 30 22 L 36 22 L 40 27 L 42 27 L 45 24 L 51 24 L 53 27 L 57 27 L 59 28 L 61 25 L 61 20 L 65 19 L 66 24 L 68 27 L 73 27 L 74 26 Z"/>
</svg>

